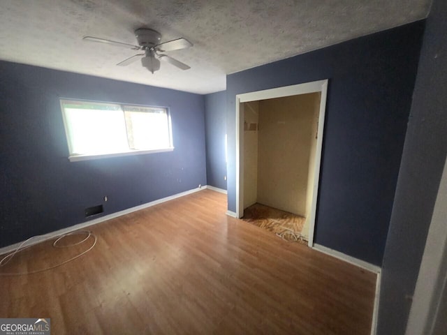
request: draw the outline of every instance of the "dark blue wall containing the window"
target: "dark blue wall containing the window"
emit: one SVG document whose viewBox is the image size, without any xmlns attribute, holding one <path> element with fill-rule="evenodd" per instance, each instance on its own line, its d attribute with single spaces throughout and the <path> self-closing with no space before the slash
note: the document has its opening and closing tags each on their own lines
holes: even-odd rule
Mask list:
<svg viewBox="0 0 447 335">
<path fill-rule="evenodd" d="M 85 222 L 86 207 L 206 184 L 203 96 L 5 61 L 0 73 L 0 246 Z M 59 98 L 169 107 L 175 150 L 71 163 Z"/>
</svg>

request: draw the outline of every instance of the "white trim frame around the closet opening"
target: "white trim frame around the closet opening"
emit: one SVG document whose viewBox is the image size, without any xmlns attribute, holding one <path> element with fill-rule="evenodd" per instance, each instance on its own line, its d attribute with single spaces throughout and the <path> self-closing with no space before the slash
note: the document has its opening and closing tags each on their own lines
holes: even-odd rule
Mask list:
<svg viewBox="0 0 447 335">
<path fill-rule="evenodd" d="M 318 182 L 320 180 L 321 149 L 323 145 L 328 80 L 306 82 L 305 84 L 278 87 L 276 89 L 265 89 L 264 91 L 237 94 L 236 96 L 236 217 L 241 218 L 244 215 L 244 105 L 242 105 L 242 103 L 315 92 L 321 92 L 321 100 L 320 114 L 318 117 L 318 138 L 316 139 L 314 193 L 312 196 L 312 207 L 309 216 L 310 247 L 314 245 L 316 201 L 318 199 Z"/>
</svg>

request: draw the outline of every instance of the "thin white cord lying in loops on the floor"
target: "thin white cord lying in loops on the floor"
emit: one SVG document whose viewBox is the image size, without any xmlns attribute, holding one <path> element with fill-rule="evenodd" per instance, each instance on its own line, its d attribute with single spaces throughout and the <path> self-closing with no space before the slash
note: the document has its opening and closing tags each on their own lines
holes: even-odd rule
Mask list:
<svg viewBox="0 0 447 335">
<path fill-rule="evenodd" d="M 68 244 L 66 246 L 58 246 L 57 243 L 59 241 L 61 241 L 61 239 L 64 239 L 64 237 L 70 236 L 70 235 L 81 235 L 81 234 L 87 234 L 87 237 L 85 237 L 85 239 L 82 239 L 82 241 L 79 241 L 75 244 Z M 29 239 L 26 239 L 25 241 L 23 241 L 19 246 L 17 246 L 17 248 L 15 248 L 14 251 L 12 251 L 11 253 L 8 253 L 5 257 L 3 257 L 0 260 L 0 267 L 5 266 L 6 264 L 8 264 L 8 262 L 10 262 L 10 260 L 12 260 L 14 258 L 14 256 L 17 253 L 20 253 L 20 251 L 24 251 L 27 248 L 30 248 L 31 246 L 34 246 L 34 244 L 30 245 L 30 246 L 25 246 L 25 244 L 27 244 L 29 241 L 31 241 L 32 239 L 36 239 L 37 237 L 48 237 L 50 235 L 45 234 L 45 235 L 37 235 L 34 237 L 30 237 Z M 43 272 L 43 271 L 47 271 L 50 269 L 54 269 L 56 267 L 60 267 L 61 265 L 64 265 L 68 262 L 71 262 L 72 260 L 75 260 L 76 258 L 80 258 L 82 255 L 85 255 L 86 253 L 88 253 L 89 251 L 91 251 L 92 248 L 94 248 L 94 246 L 96 245 L 96 235 L 89 231 L 89 230 L 78 230 L 77 232 L 68 232 L 66 234 L 61 234 L 61 235 L 57 235 L 54 237 L 50 237 L 50 238 L 56 238 L 53 242 L 53 247 L 54 248 L 68 248 L 70 246 L 77 246 L 78 244 L 82 244 L 83 242 L 87 241 L 87 239 L 89 239 L 89 237 L 93 237 L 94 238 L 94 242 L 93 244 L 91 244 L 91 246 L 85 250 L 82 251 L 82 253 L 78 253 L 78 255 L 75 255 L 73 258 L 70 258 L 69 260 L 65 260 L 64 262 L 58 263 L 57 265 L 53 265 L 51 267 L 45 267 L 44 269 L 38 269 L 35 271 L 26 271 L 26 272 L 9 272 L 9 273 L 1 273 L 0 272 L 0 276 L 22 276 L 24 274 L 37 274 L 39 272 Z M 46 240 L 46 239 L 45 239 Z"/>
</svg>

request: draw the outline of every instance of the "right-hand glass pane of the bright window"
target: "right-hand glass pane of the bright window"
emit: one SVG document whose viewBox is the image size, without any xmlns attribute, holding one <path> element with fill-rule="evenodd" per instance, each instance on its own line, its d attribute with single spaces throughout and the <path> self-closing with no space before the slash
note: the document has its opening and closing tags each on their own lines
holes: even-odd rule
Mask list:
<svg viewBox="0 0 447 335">
<path fill-rule="evenodd" d="M 124 106 L 124 114 L 131 149 L 170 147 L 168 112 L 165 109 Z"/>
</svg>

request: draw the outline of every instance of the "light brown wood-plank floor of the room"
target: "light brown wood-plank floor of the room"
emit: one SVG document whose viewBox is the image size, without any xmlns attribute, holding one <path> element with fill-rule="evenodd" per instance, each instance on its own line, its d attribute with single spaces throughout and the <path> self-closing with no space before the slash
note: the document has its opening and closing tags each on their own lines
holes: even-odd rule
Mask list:
<svg viewBox="0 0 447 335">
<path fill-rule="evenodd" d="M 221 193 L 89 229 L 98 242 L 81 258 L 0 276 L 0 318 L 51 318 L 57 335 L 370 332 L 375 274 L 226 216 Z M 44 242 L 0 271 L 31 271 L 83 248 Z"/>
</svg>

